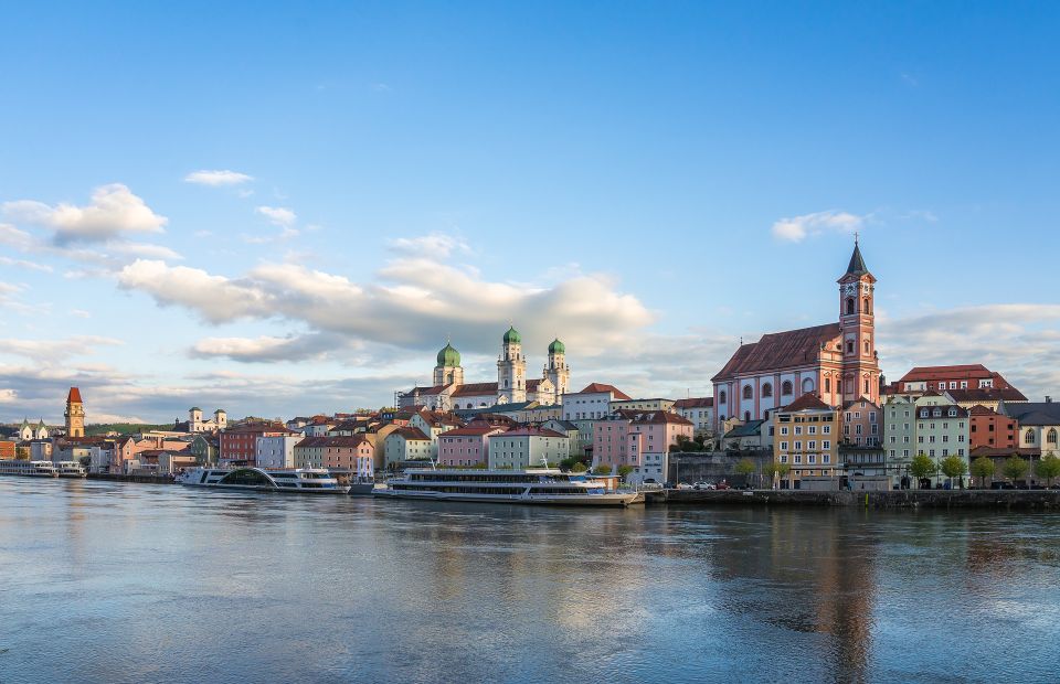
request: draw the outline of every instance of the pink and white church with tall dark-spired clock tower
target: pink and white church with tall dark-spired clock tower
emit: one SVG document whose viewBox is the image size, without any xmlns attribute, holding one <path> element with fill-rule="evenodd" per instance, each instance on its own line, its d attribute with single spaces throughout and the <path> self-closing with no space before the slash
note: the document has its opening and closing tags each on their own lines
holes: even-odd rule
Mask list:
<svg viewBox="0 0 1060 684">
<path fill-rule="evenodd" d="M 876 352 L 876 277 L 869 272 L 857 239 L 839 280 L 839 320 L 814 328 L 762 335 L 741 344 L 711 378 L 718 429 L 727 418 L 768 418 L 804 394 L 829 406 L 880 399 Z"/>
</svg>

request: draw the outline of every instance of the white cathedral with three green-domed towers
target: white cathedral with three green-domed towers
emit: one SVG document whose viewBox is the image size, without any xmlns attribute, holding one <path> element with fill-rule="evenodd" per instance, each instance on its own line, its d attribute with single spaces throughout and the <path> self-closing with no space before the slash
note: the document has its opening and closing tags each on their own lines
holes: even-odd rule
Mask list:
<svg viewBox="0 0 1060 684">
<path fill-rule="evenodd" d="M 460 353 L 447 343 L 438 352 L 431 387 L 413 387 L 399 394 L 399 408 L 425 406 L 432 410 L 486 408 L 496 404 L 537 402 L 552 405 L 570 389 L 571 370 L 566 349 L 559 340 L 549 344 L 549 357 L 541 377 L 527 380 L 527 357 L 522 355 L 522 338 L 509 328 L 501 339 L 497 356 L 496 383 L 465 383 Z"/>
</svg>

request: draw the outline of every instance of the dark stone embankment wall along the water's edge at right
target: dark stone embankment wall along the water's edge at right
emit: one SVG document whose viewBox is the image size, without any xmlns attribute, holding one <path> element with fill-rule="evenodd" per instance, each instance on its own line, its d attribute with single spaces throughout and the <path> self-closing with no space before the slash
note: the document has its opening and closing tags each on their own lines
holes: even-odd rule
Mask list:
<svg viewBox="0 0 1060 684">
<path fill-rule="evenodd" d="M 890 492 L 806 492 L 799 490 L 666 490 L 649 504 L 859 506 L 867 509 L 997 509 L 1060 511 L 1060 490 L 901 490 Z"/>
</svg>

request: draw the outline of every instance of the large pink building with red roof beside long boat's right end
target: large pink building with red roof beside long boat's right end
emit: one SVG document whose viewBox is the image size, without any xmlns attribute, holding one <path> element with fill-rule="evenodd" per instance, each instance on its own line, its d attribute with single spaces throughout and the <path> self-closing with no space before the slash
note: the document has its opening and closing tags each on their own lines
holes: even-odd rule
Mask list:
<svg viewBox="0 0 1060 684">
<path fill-rule="evenodd" d="M 691 420 L 666 410 L 616 410 L 594 426 L 593 466 L 610 466 L 612 472 L 629 466 L 627 480 L 665 482 L 669 447 L 696 429 Z"/>
</svg>

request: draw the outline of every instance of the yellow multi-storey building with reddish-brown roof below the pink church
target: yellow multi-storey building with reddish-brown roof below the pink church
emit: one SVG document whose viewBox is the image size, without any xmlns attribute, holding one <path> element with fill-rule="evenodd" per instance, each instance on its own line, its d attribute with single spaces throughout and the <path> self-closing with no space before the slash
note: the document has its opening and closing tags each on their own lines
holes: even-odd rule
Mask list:
<svg viewBox="0 0 1060 684">
<path fill-rule="evenodd" d="M 782 485 L 795 488 L 804 477 L 840 474 L 838 409 L 804 394 L 773 417 L 773 460 L 791 468 Z"/>
</svg>

